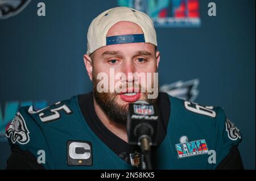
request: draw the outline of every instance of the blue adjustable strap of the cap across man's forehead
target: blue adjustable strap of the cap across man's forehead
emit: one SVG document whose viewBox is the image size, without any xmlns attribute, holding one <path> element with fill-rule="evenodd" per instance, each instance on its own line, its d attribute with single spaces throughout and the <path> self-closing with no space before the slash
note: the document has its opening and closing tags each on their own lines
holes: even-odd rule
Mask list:
<svg viewBox="0 0 256 181">
<path fill-rule="evenodd" d="M 123 44 L 123 43 L 140 43 L 145 42 L 144 34 L 135 35 L 118 35 L 106 37 L 106 45 Z"/>
</svg>

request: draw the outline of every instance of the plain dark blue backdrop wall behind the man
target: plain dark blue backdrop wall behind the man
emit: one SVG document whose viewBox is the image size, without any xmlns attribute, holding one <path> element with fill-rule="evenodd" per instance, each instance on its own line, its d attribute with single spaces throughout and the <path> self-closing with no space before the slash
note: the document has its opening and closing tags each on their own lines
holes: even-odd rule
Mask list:
<svg viewBox="0 0 256 181">
<path fill-rule="evenodd" d="M 46 16 L 38 16 L 39 2 Z M 156 27 L 160 85 L 200 81 L 195 102 L 224 107 L 242 133 L 246 169 L 255 169 L 255 1 L 214 0 L 217 16 L 199 1 L 200 26 Z M 43 107 L 92 89 L 83 54 L 90 22 L 118 1 L 34 0 L 0 19 L 0 121 L 4 132 L 15 106 Z M 10 106 L 11 105 L 11 106 Z M 0 169 L 10 149 L 0 141 Z"/>
</svg>

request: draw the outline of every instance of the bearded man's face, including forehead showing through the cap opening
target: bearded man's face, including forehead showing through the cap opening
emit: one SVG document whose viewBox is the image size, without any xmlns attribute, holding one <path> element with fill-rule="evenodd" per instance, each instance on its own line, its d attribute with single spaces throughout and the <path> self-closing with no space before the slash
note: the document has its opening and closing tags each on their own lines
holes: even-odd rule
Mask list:
<svg viewBox="0 0 256 181">
<path fill-rule="evenodd" d="M 107 36 L 142 34 L 141 27 L 132 22 L 118 22 L 110 28 Z M 148 99 L 147 85 L 143 79 L 131 76 L 131 73 L 151 76 L 150 86 L 153 84 L 153 73 L 156 73 L 159 63 L 159 52 L 156 52 L 155 45 L 149 43 L 127 43 L 108 45 L 97 49 L 93 53 L 92 74 L 89 74 L 93 81 L 93 95 L 96 103 L 106 113 L 110 120 L 116 123 L 126 124 L 127 109 L 130 102 L 146 100 L 154 103 L 156 99 Z M 87 62 L 88 63 L 88 62 Z M 86 64 L 87 64 L 86 63 Z M 86 65 L 88 70 L 88 65 Z M 114 70 L 114 77 L 110 70 Z M 112 86 L 110 78 L 115 78 L 114 87 L 119 87 L 121 92 L 99 92 L 97 85 L 101 81 L 97 75 L 105 73 L 108 75 L 108 86 Z M 117 73 L 123 73 L 124 77 L 116 77 Z M 141 74 L 141 75 L 142 75 Z M 118 84 L 119 82 L 119 84 Z M 120 83 L 122 86 L 120 87 Z M 142 91 L 144 87 L 145 91 Z M 138 88 L 138 89 L 137 89 Z M 115 89 L 116 90 L 116 89 Z M 152 93 L 151 93 L 152 94 Z"/>
</svg>

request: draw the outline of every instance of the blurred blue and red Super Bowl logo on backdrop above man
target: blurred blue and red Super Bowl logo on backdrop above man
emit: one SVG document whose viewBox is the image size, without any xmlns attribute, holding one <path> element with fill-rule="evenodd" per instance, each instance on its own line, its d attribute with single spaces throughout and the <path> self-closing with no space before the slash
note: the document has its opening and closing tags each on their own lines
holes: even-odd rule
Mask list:
<svg viewBox="0 0 256 181">
<path fill-rule="evenodd" d="M 118 0 L 146 13 L 155 27 L 200 27 L 199 0 Z"/>
</svg>

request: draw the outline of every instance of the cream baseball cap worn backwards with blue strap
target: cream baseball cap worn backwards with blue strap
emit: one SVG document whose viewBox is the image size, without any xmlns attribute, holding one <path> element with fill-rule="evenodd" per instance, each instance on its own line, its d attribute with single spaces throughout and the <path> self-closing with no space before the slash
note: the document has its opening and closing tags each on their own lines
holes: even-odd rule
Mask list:
<svg viewBox="0 0 256 181">
<path fill-rule="evenodd" d="M 109 29 L 118 22 L 128 21 L 138 24 L 143 34 L 106 36 Z M 106 10 L 93 19 L 87 34 L 87 52 L 90 55 L 95 50 L 106 45 L 123 43 L 151 43 L 157 47 L 154 24 L 144 12 L 130 7 L 114 7 Z"/>
</svg>

